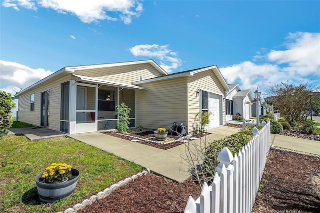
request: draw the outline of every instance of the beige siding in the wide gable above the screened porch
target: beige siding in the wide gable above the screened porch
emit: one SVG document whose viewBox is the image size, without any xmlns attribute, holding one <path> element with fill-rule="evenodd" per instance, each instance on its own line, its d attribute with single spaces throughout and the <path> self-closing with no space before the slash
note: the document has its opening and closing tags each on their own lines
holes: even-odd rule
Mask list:
<svg viewBox="0 0 320 213">
<path fill-rule="evenodd" d="M 145 80 L 162 76 L 159 71 L 148 63 L 78 70 L 75 71 L 74 74 L 126 84 L 131 84 L 132 82 L 139 81 L 140 79 Z"/>
</svg>

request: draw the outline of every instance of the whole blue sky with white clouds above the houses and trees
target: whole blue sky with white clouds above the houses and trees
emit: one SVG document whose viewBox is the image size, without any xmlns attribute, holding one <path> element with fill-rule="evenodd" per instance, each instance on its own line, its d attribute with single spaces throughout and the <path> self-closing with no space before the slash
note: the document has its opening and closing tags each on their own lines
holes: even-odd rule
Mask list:
<svg viewBox="0 0 320 213">
<path fill-rule="evenodd" d="M 320 1 L 1 0 L 0 89 L 64 66 L 217 65 L 227 83 L 320 85 Z M 252 92 L 253 92 L 252 91 Z"/>
</svg>

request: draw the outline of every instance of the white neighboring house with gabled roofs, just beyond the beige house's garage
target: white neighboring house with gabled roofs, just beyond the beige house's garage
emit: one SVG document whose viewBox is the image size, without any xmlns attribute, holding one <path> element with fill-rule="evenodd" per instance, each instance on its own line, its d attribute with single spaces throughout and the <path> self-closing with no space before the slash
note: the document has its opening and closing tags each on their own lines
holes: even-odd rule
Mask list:
<svg viewBox="0 0 320 213">
<path fill-rule="evenodd" d="M 229 91 L 225 95 L 225 120 L 232 120 L 240 114 L 245 120 L 251 118 L 251 90 L 241 90 L 239 84 L 228 84 Z"/>
</svg>

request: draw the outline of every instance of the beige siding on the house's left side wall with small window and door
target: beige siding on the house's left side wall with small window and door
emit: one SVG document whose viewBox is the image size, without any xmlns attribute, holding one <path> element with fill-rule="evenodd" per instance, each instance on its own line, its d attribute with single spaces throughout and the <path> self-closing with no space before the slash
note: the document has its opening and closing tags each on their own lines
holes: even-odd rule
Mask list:
<svg viewBox="0 0 320 213">
<path fill-rule="evenodd" d="M 60 122 L 60 83 L 68 81 L 71 75 L 58 79 L 49 79 L 47 82 L 34 87 L 19 96 L 18 120 L 35 126 L 40 126 L 41 93 L 49 92 L 48 127 L 59 131 Z M 30 111 L 30 95 L 34 93 L 34 111 Z"/>
</svg>

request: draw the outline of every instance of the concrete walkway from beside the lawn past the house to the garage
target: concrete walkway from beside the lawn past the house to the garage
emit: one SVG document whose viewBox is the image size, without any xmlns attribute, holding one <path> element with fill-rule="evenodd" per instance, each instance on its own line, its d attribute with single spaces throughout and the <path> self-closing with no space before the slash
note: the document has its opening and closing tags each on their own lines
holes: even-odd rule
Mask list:
<svg viewBox="0 0 320 213">
<path fill-rule="evenodd" d="M 233 127 L 218 127 L 210 130 L 208 141 L 224 138 L 239 131 Z M 183 182 L 190 177 L 188 166 L 183 160 L 186 157 L 184 144 L 168 150 L 162 150 L 147 145 L 112 137 L 106 134 L 93 132 L 68 135 L 69 137 L 113 153 L 125 160 L 149 168 L 153 173 L 165 176 L 176 182 Z M 194 140 L 198 143 L 200 139 Z"/>
</svg>

